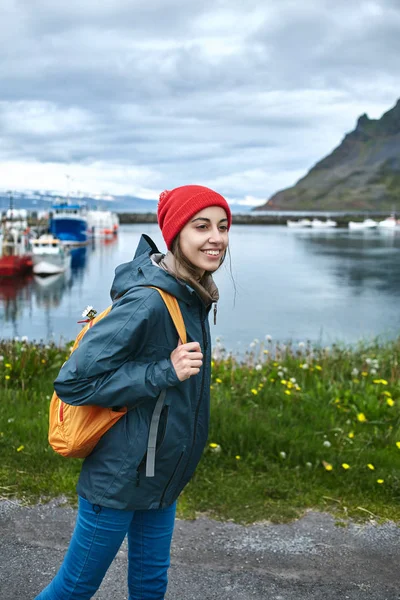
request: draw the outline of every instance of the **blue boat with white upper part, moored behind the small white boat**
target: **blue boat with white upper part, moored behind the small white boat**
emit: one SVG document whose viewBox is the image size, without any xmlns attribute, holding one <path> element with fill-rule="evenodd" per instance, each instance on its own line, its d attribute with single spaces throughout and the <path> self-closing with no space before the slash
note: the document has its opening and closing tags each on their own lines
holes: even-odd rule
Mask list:
<svg viewBox="0 0 400 600">
<path fill-rule="evenodd" d="M 88 241 L 86 206 L 72 204 L 69 200 L 53 204 L 50 233 L 63 244 L 86 244 Z"/>
</svg>

